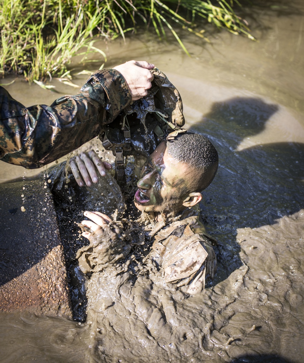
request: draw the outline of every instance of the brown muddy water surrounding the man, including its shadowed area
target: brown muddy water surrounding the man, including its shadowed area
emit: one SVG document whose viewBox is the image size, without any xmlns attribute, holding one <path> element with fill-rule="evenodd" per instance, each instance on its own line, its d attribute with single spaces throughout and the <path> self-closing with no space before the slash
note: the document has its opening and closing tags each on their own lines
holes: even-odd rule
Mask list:
<svg viewBox="0 0 304 363">
<path fill-rule="evenodd" d="M 259 15 L 258 42 L 221 32 L 202 46 L 191 37 L 192 58 L 147 35 L 108 45 L 109 67 L 145 59 L 166 73 L 187 128 L 218 149 L 218 174 L 200 205 L 219 242 L 213 284 L 183 299 L 161 287 L 156 294 L 141 278 L 128 294 L 108 294 L 108 314 L 91 305 L 86 323 L 1 314 L 0 362 L 304 361 L 304 6 L 285 3 L 247 13 Z M 21 79 L 6 88 L 27 106 L 61 95 Z M 34 173 L 1 162 L 1 182 Z M 90 291 L 100 286 L 95 280 Z M 155 306 L 162 314 L 150 316 L 153 335 L 145 319 Z"/>
</svg>

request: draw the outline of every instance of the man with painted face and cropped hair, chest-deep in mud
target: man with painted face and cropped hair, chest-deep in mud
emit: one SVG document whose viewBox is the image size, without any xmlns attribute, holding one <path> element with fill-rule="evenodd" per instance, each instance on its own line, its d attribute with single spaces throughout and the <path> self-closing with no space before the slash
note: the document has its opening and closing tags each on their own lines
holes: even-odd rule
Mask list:
<svg viewBox="0 0 304 363">
<path fill-rule="evenodd" d="M 152 264 L 168 286 L 175 285 L 173 289 L 179 287 L 187 294 L 202 291 L 205 281 L 213 278 L 216 258 L 212 238 L 200 220 L 198 203 L 217 168 L 217 151 L 204 136 L 184 133 L 161 142 L 142 168 L 134 197 L 136 208 L 142 212 L 136 238 L 142 235 L 144 240 L 141 243 L 147 252 L 144 248 L 140 251 L 144 259 L 135 256 L 132 249 L 132 224 L 86 211 L 84 215 L 90 220 L 82 221 L 82 236 L 90 245 L 78 252 L 83 272 L 103 270 L 113 261 L 118 270 L 122 263 L 134 269 L 131 260 L 141 259 L 135 270 L 139 265 Z M 138 252 L 138 243 L 134 244 Z"/>
</svg>

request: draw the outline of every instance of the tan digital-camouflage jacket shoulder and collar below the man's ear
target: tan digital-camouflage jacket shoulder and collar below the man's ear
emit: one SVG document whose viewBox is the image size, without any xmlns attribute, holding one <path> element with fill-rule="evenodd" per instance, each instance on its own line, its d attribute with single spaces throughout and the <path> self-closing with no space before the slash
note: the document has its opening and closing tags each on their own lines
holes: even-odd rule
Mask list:
<svg viewBox="0 0 304 363">
<path fill-rule="evenodd" d="M 200 209 L 185 209 L 179 220 L 157 229 L 150 232 L 154 242 L 149 257 L 161 267 L 165 282 L 176 283 L 188 294 L 204 290 L 216 270 L 211 241 L 217 242 L 206 233 Z"/>
</svg>

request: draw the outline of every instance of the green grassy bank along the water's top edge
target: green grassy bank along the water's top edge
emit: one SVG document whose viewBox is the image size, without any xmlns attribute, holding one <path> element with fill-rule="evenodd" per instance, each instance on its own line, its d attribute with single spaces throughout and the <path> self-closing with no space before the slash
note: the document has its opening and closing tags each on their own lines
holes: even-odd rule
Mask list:
<svg viewBox="0 0 304 363">
<path fill-rule="evenodd" d="M 195 24 L 201 18 L 251 37 L 245 22 L 234 13 L 234 3 L 237 1 L 0 0 L 0 77 L 10 72 L 24 74 L 28 81 L 68 76 L 67 65 L 75 54 L 82 54 L 82 62 L 86 62 L 89 53 L 98 52 L 106 61 L 102 50 L 94 47 L 94 35 L 124 38 L 126 32 L 136 32 L 143 25 L 152 28 L 159 39 L 165 39 L 169 29 L 186 53 L 176 29 L 209 41 L 204 29 Z"/>
</svg>

